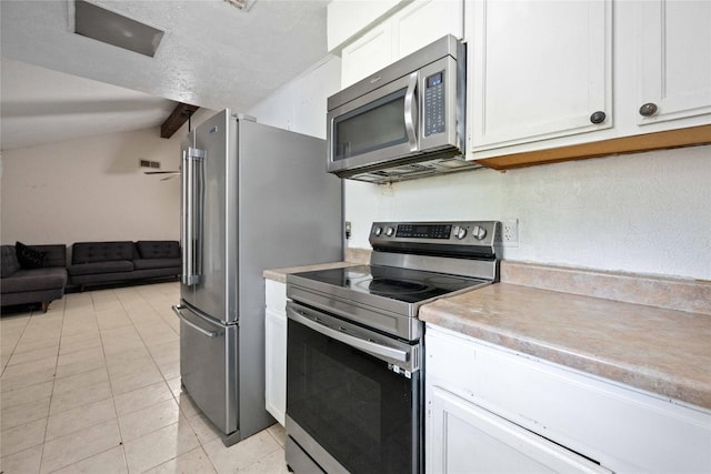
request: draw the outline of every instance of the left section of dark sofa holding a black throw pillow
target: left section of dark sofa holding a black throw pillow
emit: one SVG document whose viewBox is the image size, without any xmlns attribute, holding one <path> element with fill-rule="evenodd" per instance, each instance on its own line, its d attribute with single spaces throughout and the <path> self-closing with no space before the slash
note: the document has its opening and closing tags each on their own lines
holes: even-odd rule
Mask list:
<svg viewBox="0 0 711 474">
<path fill-rule="evenodd" d="M 67 245 L 2 245 L 0 297 L 3 306 L 49 303 L 64 294 Z"/>
</svg>

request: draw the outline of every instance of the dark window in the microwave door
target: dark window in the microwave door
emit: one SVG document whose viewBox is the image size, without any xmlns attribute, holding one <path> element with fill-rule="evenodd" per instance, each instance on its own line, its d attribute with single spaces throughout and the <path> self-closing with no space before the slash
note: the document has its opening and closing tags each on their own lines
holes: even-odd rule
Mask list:
<svg viewBox="0 0 711 474">
<path fill-rule="evenodd" d="M 333 120 L 333 161 L 408 143 L 401 89 Z"/>
</svg>

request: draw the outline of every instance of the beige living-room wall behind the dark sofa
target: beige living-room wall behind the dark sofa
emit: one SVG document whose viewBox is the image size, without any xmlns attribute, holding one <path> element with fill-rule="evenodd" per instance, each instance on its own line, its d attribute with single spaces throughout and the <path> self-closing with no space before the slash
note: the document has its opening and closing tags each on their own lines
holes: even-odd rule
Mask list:
<svg viewBox="0 0 711 474">
<path fill-rule="evenodd" d="M 200 114 L 211 114 L 200 110 Z M 183 125 L 2 151 L 0 236 L 3 244 L 109 240 L 178 240 L 180 179 L 146 175 L 139 159 L 178 170 Z"/>
</svg>

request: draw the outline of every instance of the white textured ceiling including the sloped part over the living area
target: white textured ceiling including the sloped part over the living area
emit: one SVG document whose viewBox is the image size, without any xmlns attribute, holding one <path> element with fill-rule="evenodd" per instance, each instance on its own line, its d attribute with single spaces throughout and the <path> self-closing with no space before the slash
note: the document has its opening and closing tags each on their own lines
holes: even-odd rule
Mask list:
<svg viewBox="0 0 711 474">
<path fill-rule="evenodd" d="M 3 150 L 247 110 L 327 56 L 327 0 L 93 2 L 166 30 L 156 57 L 74 34 L 72 0 L 2 0 Z"/>
</svg>

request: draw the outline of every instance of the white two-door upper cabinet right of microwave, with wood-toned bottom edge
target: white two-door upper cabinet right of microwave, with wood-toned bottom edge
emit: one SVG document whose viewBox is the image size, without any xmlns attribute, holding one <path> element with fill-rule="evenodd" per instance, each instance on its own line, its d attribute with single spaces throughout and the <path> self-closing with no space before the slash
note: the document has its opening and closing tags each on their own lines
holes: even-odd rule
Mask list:
<svg viewBox="0 0 711 474">
<path fill-rule="evenodd" d="M 469 159 L 505 169 L 711 141 L 711 2 L 465 4 Z"/>
</svg>

